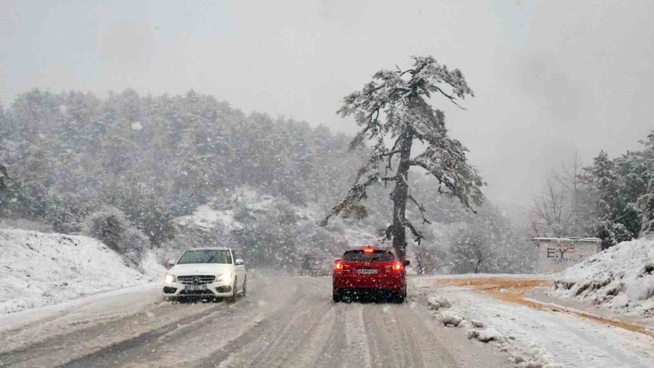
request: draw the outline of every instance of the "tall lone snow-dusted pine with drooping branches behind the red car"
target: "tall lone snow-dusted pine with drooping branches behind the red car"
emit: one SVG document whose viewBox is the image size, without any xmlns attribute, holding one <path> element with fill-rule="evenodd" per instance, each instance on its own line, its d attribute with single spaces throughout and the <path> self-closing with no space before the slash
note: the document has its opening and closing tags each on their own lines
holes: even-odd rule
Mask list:
<svg viewBox="0 0 654 368">
<path fill-rule="evenodd" d="M 330 217 L 347 211 L 366 199 L 368 187 L 375 183 L 394 183 L 390 193 L 393 202 L 392 223 L 386 229 L 386 238 L 392 238 L 398 257 L 406 257 L 405 228 L 411 230 L 419 242 L 422 234 L 406 218 L 407 201 L 411 200 L 421 212 L 424 207 L 409 192 L 409 170 L 419 168 L 438 180 L 438 193 L 458 198 L 472 209 L 481 204 L 480 188 L 485 184 L 466 160 L 466 147 L 447 135 L 445 114 L 432 109 L 428 99 L 438 94 L 456 103 L 458 98 L 473 96 L 463 74 L 449 70 L 431 56 L 413 57 L 409 69 L 381 70 L 360 91 L 343 99 L 339 113 L 354 116 L 361 130 L 351 142 L 351 149 L 372 141 L 368 162 L 359 170 L 353 187 L 341 202 L 336 204 L 321 221 L 326 226 Z M 411 156 L 414 143 L 421 143 Z M 387 147 L 387 142 L 392 142 Z M 388 175 L 388 172 L 394 172 Z"/>
</svg>

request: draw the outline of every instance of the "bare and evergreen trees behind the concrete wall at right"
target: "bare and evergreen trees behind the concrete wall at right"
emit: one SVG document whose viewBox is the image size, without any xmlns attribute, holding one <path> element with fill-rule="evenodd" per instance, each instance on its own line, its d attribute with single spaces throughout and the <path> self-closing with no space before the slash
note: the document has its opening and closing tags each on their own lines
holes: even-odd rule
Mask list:
<svg viewBox="0 0 654 368">
<path fill-rule="evenodd" d="M 600 151 L 587 166 L 577 153 L 563 162 L 534 197 L 530 234 L 591 236 L 606 249 L 653 232 L 654 132 L 640 143 L 614 158 Z"/>
</svg>

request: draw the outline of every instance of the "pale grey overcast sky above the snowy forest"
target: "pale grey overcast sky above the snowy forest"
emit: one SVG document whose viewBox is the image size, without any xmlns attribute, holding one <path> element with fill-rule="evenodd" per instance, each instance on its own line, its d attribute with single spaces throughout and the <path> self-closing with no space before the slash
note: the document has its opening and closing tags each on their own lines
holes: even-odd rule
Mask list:
<svg viewBox="0 0 654 368">
<path fill-rule="evenodd" d="M 526 205 L 574 149 L 590 163 L 654 130 L 653 1 L 13 1 L 0 12 L 0 101 L 191 88 L 246 113 L 353 134 L 341 98 L 432 55 L 475 98 L 435 98 L 490 198 Z"/>
</svg>

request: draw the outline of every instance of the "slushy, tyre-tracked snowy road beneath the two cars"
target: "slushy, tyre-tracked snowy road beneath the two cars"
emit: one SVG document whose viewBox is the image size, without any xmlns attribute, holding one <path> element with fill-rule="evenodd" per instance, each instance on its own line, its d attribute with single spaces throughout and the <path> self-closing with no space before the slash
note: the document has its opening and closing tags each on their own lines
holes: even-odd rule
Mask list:
<svg viewBox="0 0 654 368">
<path fill-rule="evenodd" d="M 0 367 L 513 367 L 405 304 L 331 302 L 330 278 L 253 278 L 234 303 L 154 286 L 0 322 Z M 18 316 L 21 317 L 21 316 Z M 3 317 L 4 318 L 4 317 Z"/>
</svg>

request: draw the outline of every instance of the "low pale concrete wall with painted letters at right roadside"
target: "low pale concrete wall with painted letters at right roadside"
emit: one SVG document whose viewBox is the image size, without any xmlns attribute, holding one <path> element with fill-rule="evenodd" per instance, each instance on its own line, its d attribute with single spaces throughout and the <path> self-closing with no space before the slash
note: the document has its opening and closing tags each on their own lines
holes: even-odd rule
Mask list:
<svg viewBox="0 0 654 368">
<path fill-rule="evenodd" d="M 542 274 L 560 272 L 602 251 L 602 240 L 535 238 L 538 268 Z"/>
</svg>

